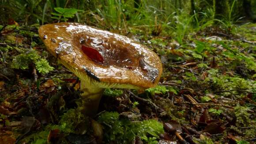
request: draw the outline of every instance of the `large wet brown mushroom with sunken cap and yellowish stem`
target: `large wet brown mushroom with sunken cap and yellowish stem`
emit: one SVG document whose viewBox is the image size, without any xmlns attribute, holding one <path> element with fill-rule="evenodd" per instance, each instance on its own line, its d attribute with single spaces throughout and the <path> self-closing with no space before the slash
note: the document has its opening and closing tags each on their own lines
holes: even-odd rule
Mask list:
<svg viewBox="0 0 256 144">
<path fill-rule="evenodd" d="M 97 113 L 105 88 L 147 89 L 162 74 L 158 55 L 128 37 L 66 22 L 38 31 L 47 50 L 80 78 L 79 108 L 89 116 Z"/>
</svg>

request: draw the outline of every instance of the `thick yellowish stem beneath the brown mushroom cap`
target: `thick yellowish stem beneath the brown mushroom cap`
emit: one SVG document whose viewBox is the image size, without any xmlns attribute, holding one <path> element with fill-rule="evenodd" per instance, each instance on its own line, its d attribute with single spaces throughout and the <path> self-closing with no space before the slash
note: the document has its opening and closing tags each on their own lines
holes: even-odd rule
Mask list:
<svg viewBox="0 0 256 144">
<path fill-rule="evenodd" d="M 87 116 L 95 116 L 104 89 L 81 80 L 80 90 L 83 93 L 81 94 L 82 104 L 78 107 L 79 110 Z"/>
</svg>

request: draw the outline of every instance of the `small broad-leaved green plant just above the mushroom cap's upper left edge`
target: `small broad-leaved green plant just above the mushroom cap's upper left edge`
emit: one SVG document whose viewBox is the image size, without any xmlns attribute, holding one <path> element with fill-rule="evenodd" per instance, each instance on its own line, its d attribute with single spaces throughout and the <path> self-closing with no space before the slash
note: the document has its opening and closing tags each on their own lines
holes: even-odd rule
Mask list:
<svg viewBox="0 0 256 144">
<path fill-rule="evenodd" d="M 54 10 L 57 13 L 53 12 L 52 15 L 55 15 L 55 16 L 52 16 L 51 18 L 57 19 L 58 22 L 60 22 L 60 20 L 63 20 L 66 22 L 68 18 L 73 18 L 77 12 L 82 11 L 75 8 L 61 8 L 61 7 L 55 7 Z"/>
</svg>

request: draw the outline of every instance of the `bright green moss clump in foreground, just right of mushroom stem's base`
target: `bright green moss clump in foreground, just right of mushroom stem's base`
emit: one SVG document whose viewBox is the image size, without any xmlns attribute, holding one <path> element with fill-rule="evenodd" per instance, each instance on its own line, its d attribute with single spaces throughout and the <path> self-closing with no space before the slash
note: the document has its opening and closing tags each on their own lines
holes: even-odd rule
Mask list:
<svg viewBox="0 0 256 144">
<path fill-rule="evenodd" d="M 104 126 L 104 140 L 106 143 L 116 141 L 117 143 L 129 144 L 136 136 L 141 140 L 154 144 L 159 139 L 159 134 L 164 133 L 162 123 L 157 120 L 145 120 L 131 122 L 119 118 L 117 112 L 104 112 L 98 122 Z"/>
</svg>

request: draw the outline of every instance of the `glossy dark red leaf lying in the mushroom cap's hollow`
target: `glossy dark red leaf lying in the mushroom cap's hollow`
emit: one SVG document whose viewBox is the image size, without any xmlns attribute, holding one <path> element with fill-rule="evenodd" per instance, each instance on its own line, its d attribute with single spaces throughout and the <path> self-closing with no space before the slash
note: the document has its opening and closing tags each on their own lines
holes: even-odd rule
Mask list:
<svg viewBox="0 0 256 144">
<path fill-rule="evenodd" d="M 82 45 L 82 51 L 93 61 L 95 61 L 97 63 L 104 62 L 103 56 L 96 49 L 89 48 L 89 47 Z"/>
</svg>

